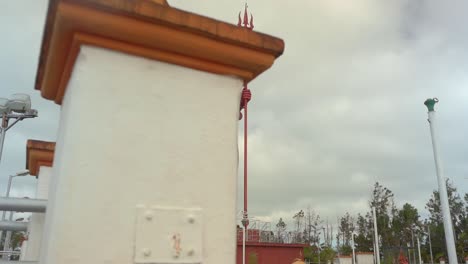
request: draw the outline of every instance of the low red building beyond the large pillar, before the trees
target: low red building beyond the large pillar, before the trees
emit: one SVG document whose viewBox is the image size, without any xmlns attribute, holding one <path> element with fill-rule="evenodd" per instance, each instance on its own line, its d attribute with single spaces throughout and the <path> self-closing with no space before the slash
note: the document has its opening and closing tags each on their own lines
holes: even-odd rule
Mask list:
<svg viewBox="0 0 468 264">
<path fill-rule="evenodd" d="M 304 259 L 305 244 L 263 242 L 265 234 L 258 229 L 248 230 L 246 237 L 246 264 L 291 264 L 296 259 Z M 242 264 L 242 229 L 237 233 L 236 263 Z"/>
</svg>

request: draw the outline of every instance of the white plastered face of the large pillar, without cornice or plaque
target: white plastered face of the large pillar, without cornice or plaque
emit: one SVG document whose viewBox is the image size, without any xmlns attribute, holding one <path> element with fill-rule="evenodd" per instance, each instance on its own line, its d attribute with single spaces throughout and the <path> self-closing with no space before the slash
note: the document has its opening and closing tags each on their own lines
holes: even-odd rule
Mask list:
<svg viewBox="0 0 468 264">
<path fill-rule="evenodd" d="M 201 208 L 196 254 L 234 264 L 241 89 L 229 76 L 82 47 L 62 104 L 40 263 L 134 263 L 144 205 Z"/>
</svg>

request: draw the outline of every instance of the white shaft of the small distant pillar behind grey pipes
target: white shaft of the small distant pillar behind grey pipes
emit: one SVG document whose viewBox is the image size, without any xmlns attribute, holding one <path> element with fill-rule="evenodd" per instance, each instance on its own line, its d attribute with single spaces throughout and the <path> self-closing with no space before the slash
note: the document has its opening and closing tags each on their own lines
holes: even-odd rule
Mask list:
<svg viewBox="0 0 468 264">
<path fill-rule="evenodd" d="M 51 167 L 41 166 L 39 169 L 38 181 L 36 186 L 36 199 L 48 199 L 49 180 L 52 173 Z M 23 242 L 21 249 L 21 260 L 23 261 L 38 261 L 42 243 L 42 235 L 44 232 L 43 213 L 32 213 L 29 219 L 28 239 Z"/>
</svg>

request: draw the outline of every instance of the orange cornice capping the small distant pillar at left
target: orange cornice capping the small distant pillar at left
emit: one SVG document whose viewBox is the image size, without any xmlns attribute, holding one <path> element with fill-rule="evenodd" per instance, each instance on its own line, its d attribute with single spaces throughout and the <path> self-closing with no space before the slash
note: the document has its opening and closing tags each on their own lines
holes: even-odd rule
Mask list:
<svg viewBox="0 0 468 264">
<path fill-rule="evenodd" d="M 26 144 L 26 169 L 29 174 L 38 176 L 39 167 L 52 167 L 54 162 L 55 142 L 29 139 Z"/>
</svg>

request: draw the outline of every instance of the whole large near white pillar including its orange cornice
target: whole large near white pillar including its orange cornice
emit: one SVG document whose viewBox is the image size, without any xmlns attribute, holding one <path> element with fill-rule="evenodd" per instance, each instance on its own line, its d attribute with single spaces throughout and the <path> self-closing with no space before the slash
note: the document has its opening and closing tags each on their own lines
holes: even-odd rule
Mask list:
<svg viewBox="0 0 468 264">
<path fill-rule="evenodd" d="M 240 95 L 281 40 L 152 1 L 55 1 L 42 264 L 231 263 Z M 45 43 L 45 44 L 44 44 Z"/>
</svg>

